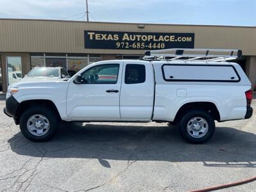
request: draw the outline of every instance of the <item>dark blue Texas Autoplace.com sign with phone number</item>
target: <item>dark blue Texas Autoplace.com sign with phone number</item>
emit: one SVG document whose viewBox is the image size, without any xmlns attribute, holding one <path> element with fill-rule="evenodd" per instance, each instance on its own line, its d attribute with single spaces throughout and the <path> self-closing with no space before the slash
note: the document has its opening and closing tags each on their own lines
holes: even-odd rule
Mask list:
<svg viewBox="0 0 256 192">
<path fill-rule="evenodd" d="M 84 31 L 85 49 L 194 48 L 195 33 Z"/>
</svg>

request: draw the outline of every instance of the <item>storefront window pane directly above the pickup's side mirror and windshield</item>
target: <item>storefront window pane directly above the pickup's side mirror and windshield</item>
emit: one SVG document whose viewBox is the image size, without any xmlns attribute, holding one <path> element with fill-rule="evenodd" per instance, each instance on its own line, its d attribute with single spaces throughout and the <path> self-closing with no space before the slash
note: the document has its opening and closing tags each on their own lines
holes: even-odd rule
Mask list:
<svg viewBox="0 0 256 192">
<path fill-rule="evenodd" d="M 68 58 L 68 73 L 77 72 L 88 65 L 88 58 Z"/>
</svg>

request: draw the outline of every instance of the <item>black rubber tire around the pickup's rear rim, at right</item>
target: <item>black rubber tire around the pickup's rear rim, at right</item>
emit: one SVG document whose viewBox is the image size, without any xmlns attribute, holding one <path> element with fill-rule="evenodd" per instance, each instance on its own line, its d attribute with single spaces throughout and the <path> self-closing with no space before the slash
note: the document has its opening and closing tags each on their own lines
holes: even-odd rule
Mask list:
<svg viewBox="0 0 256 192">
<path fill-rule="evenodd" d="M 189 127 L 188 123 L 191 124 L 191 122 L 189 122 L 190 120 L 192 121 L 193 119 L 195 120 L 195 117 L 200 117 L 203 119 L 203 121 L 205 120 L 207 122 L 207 124 L 204 124 L 203 127 L 206 127 L 206 125 L 208 125 L 207 127 L 207 131 L 205 131 L 204 133 L 202 133 L 200 135 L 200 138 L 195 138 L 195 136 L 191 136 L 191 134 L 194 133 L 194 131 L 196 132 L 196 130 L 191 130 L 189 131 L 187 129 L 187 126 Z M 200 118 L 196 118 L 196 120 L 200 120 Z M 201 120 L 202 120 L 201 119 Z M 195 121 L 194 121 L 195 122 Z M 193 124 L 191 124 L 191 127 Z M 200 129 L 200 128 L 198 128 Z M 194 143 L 194 144 L 199 144 L 199 143 L 205 143 L 206 141 L 210 140 L 215 132 L 215 123 L 214 123 L 214 119 L 212 118 L 212 116 L 207 113 L 204 110 L 200 110 L 200 109 L 193 109 L 190 111 L 187 111 L 184 116 L 182 116 L 182 118 L 180 118 L 179 120 L 179 132 L 180 135 L 182 136 L 182 138 L 184 138 L 184 140 L 188 141 L 189 143 Z M 189 134 L 190 132 L 190 134 Z M 200 134 L 200 131 L 199 131 Z"/>
</svg>

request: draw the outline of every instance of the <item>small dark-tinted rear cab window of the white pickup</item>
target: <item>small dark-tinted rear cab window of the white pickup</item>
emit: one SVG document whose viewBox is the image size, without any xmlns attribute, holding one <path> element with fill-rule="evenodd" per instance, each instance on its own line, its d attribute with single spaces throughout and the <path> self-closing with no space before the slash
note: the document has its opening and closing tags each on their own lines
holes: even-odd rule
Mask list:
<svg viewBox="0 0 256 192">
<path fill-rule="evenodd" d="M 125 67 L 125 84 L 144 83 L 146 80 L 145 65 L 127 64 Z"/>
</svg>

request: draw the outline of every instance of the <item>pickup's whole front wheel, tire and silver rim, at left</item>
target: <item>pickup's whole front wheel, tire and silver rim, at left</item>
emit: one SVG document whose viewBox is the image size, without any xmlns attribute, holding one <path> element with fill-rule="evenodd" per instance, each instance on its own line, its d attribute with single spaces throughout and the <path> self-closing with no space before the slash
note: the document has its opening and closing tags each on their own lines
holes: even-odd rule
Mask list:
<svg viewBox="0 0 256 192">
<path fill-rule="evenodd" d="M 56 133 L 57 127 L 58 118 L 46 106 L 29 108 L 20 116 L 20 131 L 31 141 L 50 140 Z"/>
</svg>

